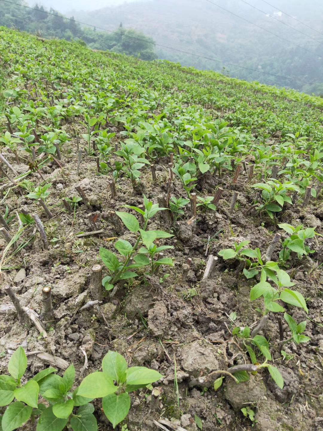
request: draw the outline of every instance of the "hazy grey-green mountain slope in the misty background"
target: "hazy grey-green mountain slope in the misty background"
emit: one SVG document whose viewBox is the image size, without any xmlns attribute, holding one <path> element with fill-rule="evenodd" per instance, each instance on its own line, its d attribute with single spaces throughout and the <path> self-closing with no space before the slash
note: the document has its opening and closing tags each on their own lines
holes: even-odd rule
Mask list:
<svg viewBox="0 0 323 431">
<path fill-rule="evenodd" d="M 227 64 L 156 46 L 156 53 L 161 59 L 218 72 L 225 67 L 233 77 L 323 94 L 322 2 L 311 2 L 310 7 L 304 7 L 304 2 L 295 0 L 273 2 L 277 8 L 297 16 L 319 33 L 288 16 L 278 19 L 284 22 L 283 25 L 277 18 L 272 19 L 240 0 L 214 0 L 213 3 L 233 12 L 233 15 L 205 0 L 142 0 L 73 13 L 75 19 L 109 30 L 114 30 L 122 22 L 125 28 L 134 28 L 151 36 L 157 44 Z M 276 10 L 262 0 L 248 3 L 270 15 Z M 232 66 L 235 64 L 255 69 L 256 72 Z M 262 74 L 258 70 L 280 77 Z"/>
</svg>

